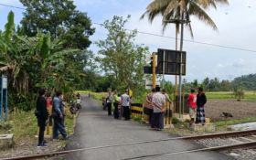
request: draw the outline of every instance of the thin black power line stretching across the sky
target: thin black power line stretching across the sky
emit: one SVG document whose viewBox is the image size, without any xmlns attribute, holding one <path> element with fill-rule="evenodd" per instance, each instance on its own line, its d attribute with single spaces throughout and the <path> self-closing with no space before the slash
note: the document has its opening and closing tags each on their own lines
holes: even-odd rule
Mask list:
<svg viewBox="0 0 256 160">
<path fill-rule="evenodd" d="M 21 10 L 26 10 L 26 8 L 15 6 L 15 5 L 5 5 L 5 4 L 2 4 L 2 3 L 0 3 L 0 5 L 7 6 L 7 7 L 13 7 L 13 8 L 16 8 L 16 9 L 21 9 Z M 92 24 L 102 26 L 101 23 L 92 23 Z M 128 29 L 128 28 L 124 28 L 124 29 L 128 30 L 128 31 L 133 31 L 133 29 Z M 164 37 L 164 38 L 169 38 L 169 39 L 176 39 L 176 37 L 168 37 L 168 36 L 164 36 L 164 35 L 158 35 L 158 34 L 155 34 L 155 33 L 143 32 L 143 31 L 139 31 L 139 30 L 137 30 L 137 33 L 143 34 L 143 35 L 155 36 L 155 37 Z M 180 40 L 180 38 L 177 38 L 177 39 Z M 200 41 L 195 41 L 195 40 L 190 40 L 190 39 L 184 39 L 184 41 L 189 42 L 189 43 L 195 43 L 195 44 L 200 44 L 200 45 L 217 47 L 217 48 L 229 48 L 229 49 L 234 49 L 234 50 L 241 50 L 241 51 L 256 53 L 256 50 L 248 49 L 248 48 L 236 48 L 236 47 L 231 47 L 231 46 L 212 44 L 212 43 L 207 43 L 207 42 L 200 42 Z"/>
</svg>

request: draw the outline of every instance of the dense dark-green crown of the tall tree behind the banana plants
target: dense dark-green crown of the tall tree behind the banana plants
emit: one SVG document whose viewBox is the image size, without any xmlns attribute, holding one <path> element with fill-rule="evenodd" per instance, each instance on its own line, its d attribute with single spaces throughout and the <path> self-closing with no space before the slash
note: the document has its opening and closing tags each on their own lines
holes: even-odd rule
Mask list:
<svg viewBox="0 0 256 160">
<path fill-rule="evenodd" d="M 52 37 L 62 39 L 66 48 L 88 48 L 89 37 L 94 33 L 91 19 L 86 13 L 76 10 L 73 1 L 69 0 L 20 0 L 26 7 L 21 20 L 20 32 L 28 37 L 37 35 L 37 29 L 50 33 Z"/>
</svg>

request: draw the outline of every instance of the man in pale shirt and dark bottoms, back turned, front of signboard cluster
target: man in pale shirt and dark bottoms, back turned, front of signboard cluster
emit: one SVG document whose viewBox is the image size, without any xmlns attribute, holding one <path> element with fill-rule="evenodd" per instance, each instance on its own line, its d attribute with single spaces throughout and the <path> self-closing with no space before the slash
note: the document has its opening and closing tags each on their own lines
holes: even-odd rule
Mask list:
<svg viewBox="0 0 256 160">
<path fill-rule="evenodd" d="M 154 106 L 151 128 L 156 130 L 164 129 L 164 113 L 166 97 L 160 92 L 160 87 L 155 88 L 156 93 L 153 95 L 152 104 Z"/>
</svg>

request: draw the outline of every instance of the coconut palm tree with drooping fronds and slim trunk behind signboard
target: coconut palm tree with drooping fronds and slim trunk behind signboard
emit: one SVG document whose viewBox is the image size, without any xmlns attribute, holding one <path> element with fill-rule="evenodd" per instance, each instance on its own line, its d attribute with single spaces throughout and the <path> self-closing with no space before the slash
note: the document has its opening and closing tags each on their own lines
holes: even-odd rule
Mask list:
<svg viewBox="0 0 256 160">
<path fill-rule="evenodd" d="M 193 31 L 190 24 L 190 16 L 195 16 L 202 22 L 206 23 L 213 30 L 218 30 L 214 21 L 208 16 L 206 9 L 213 7 L 217 9 L 217 5 L 228 5 L 228 0 L 154 0 L 147 5 L 146 11 L 141 18 L 148 16 L 148 20 L 152 23 L 156 16 L 162 16 L 163 32 L 169 23 L 176 24 L 176 50 L 177 36 L 181 27 L 180 51 L 183 48 L 183 29 L 184 24 L 188 27 L 191 37 Z M 179 77 L 181 83 L 181 75 Z M 176 76 L 177 86 L 177 76 Z M 181 85 L 180 85 L 181 88 Z M 180 91 L 181 92 L 181 89 Z M 181 93 L 180 93 L 181 94 Z"/>
</svg>

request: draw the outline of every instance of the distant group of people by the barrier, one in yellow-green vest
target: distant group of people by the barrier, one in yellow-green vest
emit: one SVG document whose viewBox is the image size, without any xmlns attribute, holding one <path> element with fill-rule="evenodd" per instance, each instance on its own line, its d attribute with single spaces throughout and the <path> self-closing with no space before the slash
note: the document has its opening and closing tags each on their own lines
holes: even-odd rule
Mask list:
<svg viewBox="0 0 256 160">
<path fill-rule="evenodd" d="M 122 95 L 117 91 L 109 91 L 106 98 L 106 105 L 108 109 L 108 115 L 112 115 L 112 104 L 114 107 L 113 117 L 115 119 L 124 118 L 124 120 L 130 120 L 132 98 L 129 96 L 129 91 L 125 90 Z"/>
</svg>

